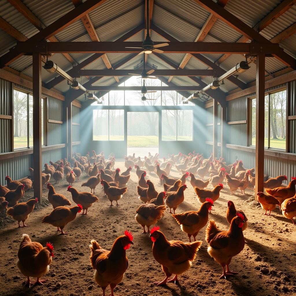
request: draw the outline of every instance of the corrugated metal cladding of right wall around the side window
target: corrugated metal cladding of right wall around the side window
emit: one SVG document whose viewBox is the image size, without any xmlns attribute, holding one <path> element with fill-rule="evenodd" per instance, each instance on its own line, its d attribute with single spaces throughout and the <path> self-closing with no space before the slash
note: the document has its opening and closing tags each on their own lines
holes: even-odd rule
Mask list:
<svg viewBox="0 0 296 296">
<path fill-rule="evenodd" d="M 286 86 L 281 84 L 266 91 L 279 89 Z M 255 94 L 251 94 L 252 96 Z M 296 115 L 296 81 L 291 81 L 288 84 L 289 96 L 289 115 Z M 288 114 L 287 114 L 288 115 Z M 227 107 L 228 121 L 240 121 L 247 119 L 247 96 L 242 96 L 228 102 Z M 229 144 L 245 146 L 246 145 L 246 124 L 232 124 L 230 125 L 230 139 Z M 289 152 L 296 153 L 296 120 L 289 120 Z M 244 152 L 236 149 L 227 149 L 227 161 L 234 162 L 236 159 L 242 160 L 245 168 L 255 167 L 255 153 Z M 292 176 L 296 176 L 296 161 L 287 160 L 284 158 L 267 156 L 264 157 L 264 173 L 271 177 L 278 175 L 287 175 L 288 182 Z M 288 184 L 285 181 L 285 184 Z"/>
</svg>

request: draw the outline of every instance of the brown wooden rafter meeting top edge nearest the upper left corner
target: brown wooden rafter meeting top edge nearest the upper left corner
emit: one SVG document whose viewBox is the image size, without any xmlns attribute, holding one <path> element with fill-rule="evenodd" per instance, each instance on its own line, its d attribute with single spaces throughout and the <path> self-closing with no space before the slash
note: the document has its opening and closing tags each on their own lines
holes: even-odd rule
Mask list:
<svg viewBox="0 0 296 296">
<path fill-rule="evenodd" d="M 31 24 L 33 24 L 39 31 L 45 28 L 45 25 L 28 9 L 28 7 L 21 0 L 7 0 L 13 7 L 15 7 Z M 48 38 L 51 42 L 58 42 L 55 36 Z M 63 56 L 73 65 L 75 60 L 68 53 L 63 53 Z"/>
</svg>

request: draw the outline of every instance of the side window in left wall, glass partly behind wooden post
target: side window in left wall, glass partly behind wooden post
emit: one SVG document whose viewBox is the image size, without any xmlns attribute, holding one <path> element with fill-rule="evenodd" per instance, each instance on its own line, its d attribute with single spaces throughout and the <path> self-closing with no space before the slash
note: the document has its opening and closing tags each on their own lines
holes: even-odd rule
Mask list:
<svg viewBox="0 0 296 296">
<path fill-rule="evenodd" d="M 44 145 L 44 99 L 41 99 L 41 144 Z M 33 96 L 13 91 L 14 149 L 33 147 Z"/>
</svg>

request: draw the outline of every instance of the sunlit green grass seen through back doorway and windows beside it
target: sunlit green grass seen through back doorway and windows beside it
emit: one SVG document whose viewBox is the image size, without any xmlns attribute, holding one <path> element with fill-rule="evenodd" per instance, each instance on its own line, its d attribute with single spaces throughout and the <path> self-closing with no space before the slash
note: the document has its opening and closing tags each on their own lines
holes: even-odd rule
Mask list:
<svg viewBox="0 0 296 296">
<path fill-rule="evenodd" d="M 107 141 L 107 136 L 93 136 L 94 141 Z M 123 141 L 123 136 L 110 136 L 110 140 Z M 163 136 L 163 141 L 176 141 L 174 136 Z M 178 141 L 192 141 L 190 136 L 178 136 Z M 128 136 L 128 147 L 158 147 L 158 136 Z"/>
</svg>

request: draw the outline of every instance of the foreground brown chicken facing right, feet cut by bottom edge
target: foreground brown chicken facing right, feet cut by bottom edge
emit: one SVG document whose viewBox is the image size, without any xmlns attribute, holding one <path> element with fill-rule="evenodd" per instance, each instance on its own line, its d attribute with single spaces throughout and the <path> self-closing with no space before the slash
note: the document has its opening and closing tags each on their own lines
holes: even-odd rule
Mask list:
<svg viewBox="0 0 296 296">
<path fill-rule="evenodd" d="M 96 240 L 91 240 L 90 262 L 95 269 L 94 279 L 102 288 L 103 296 L 105 289 L 110 286 L 111 296 L 115 296 L 113 289 L 122 281 L 123 275 L 128 268 L 126 250 L 133 244 L 133 235 L 127 230 L 124 235 L 118 237 L 110 251 L 104 250 Z"/>
</svg>

